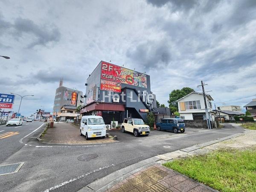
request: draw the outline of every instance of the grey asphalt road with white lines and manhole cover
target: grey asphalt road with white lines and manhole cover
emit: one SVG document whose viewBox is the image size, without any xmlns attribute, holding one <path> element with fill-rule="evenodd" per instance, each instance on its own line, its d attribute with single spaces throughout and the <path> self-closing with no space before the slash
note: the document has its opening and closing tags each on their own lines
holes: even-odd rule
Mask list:
<svg viewBox="0 0 256 192">
<path fill-rule="evenodd" d="M 40 125 L 41 122 L 34 122 L 29 126 L 36 129 Z M 134 137 L 129 133 L 109 131 L 110 134 L 118 136 L 119 142 L 104 145 L 41 144 L 34 138 L 38 131 L 23 139 L 23 146 L 20 147 L 21 143 L 18 144 L 20 149 L 16 148 L 9 156 L 6 153 L 7 158 L 3 158 L 2 164 L 24 162 L 24 165 L 15 174 L 0 176 L 0 191 L 75 192 L 98 178 L 140 160 L 241 133 L 244 130 L 241 127 L 226 125 L 226 128 L 218 130 L 188 128 L 183 134 L 152 131 L 148 137 Z M 19 138 L 22 137 L 17 137 L 16 140 Z M 0 142 L 3 142 L 2 140 Z M 6 141 L 6 144 L 8 143 Z M 5 147 L 0 144 L 1 148 Z M 82 154 L 97 154 L 98 157 L 89 161 L 78 160 Z"/>
</svg>

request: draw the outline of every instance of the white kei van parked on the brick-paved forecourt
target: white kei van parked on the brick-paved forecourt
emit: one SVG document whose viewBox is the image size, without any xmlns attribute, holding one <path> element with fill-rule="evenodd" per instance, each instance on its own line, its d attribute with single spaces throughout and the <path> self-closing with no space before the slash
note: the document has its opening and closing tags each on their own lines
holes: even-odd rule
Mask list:
<svg viewBox="0 0 256 192">
<path fill-rule="evenodd" d="M 84 135 L 86 140 L 93 137 L 105 138 L 106 125 L 102 116 L 82 116 L 80 123 L 80 135 Z"/>
</svg>

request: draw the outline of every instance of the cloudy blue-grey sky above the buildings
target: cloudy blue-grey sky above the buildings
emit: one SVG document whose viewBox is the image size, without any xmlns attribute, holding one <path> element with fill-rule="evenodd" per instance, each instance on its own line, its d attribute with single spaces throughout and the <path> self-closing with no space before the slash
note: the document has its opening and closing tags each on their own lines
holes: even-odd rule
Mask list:
<svg viewBox="0 0 256 192">
<path fill-rule="evenodd" d="M 203 80 L 216 105 L 243 106 L 256 98 L 256 1 L 1 0 L 0 55 L 0 93 L 35 95 L 23 115 L 52 111 L 60 78 L 85 92 L 101 60 L 146 72 L 166 105 Z"/>
</svg>

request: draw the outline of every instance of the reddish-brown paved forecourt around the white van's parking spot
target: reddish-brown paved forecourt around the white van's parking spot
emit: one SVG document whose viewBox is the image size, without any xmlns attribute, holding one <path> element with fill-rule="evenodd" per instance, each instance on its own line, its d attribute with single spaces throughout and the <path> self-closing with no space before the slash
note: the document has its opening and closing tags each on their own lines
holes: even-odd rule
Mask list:
<svg viewBox="0 0 256 192">
<path fill-rule="evenodd" d="M 44 136 L 41 137 L 43 143 L 53 144 L 100 144 L 100 143 L 113 143 L 116 142 L 112 139 L 105 137 L 91 138 L 86 140 L 85 136 L 80 136 L 79 128 L 72 123 L 57 123 L 54 122 L 54 128 L 48 128 Z"/>
</svg>

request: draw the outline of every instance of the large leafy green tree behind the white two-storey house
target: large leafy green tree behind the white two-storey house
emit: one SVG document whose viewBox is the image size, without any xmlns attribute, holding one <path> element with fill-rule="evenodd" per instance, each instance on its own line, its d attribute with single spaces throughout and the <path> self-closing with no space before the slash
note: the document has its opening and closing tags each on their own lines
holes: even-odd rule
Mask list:
<svg viewBox="0 0 256 192">
<path fill-rule="evenodd" d="M 169 101 L 168 101 L 170 111 L 172 113 L 174 113 L 175 111 L 178 111 L 178 103 L 176 101 L 193 91 L 194 90 L 190 87 L 183 87 L 181 90 L 180 89 L 172 90 L 172 92 L 169 94 Z"/>
</svg>

